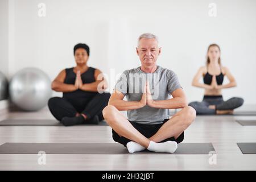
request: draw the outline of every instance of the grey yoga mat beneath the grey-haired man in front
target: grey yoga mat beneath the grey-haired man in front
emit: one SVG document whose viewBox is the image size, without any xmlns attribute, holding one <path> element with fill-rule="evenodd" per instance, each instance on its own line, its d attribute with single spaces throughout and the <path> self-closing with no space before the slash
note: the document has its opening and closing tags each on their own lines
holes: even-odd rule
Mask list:
<svg viewBox="0 0 256 182">
<path fill-rule="evenodd" d="M 119 143 L 4 143 L 0 154 L 129 154 Z M 212 143 L 180 143 L 175 154 L 209 154 L 214 151 Z M 134 154 L 167 154 L 149 151 Z"/>
</svg>

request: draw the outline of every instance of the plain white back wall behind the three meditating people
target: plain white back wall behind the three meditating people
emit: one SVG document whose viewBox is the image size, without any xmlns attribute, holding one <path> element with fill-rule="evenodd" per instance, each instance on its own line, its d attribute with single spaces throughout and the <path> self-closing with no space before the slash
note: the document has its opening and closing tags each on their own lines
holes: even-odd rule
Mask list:
<svg viewBox="0 0 256 182">
<path fill-rule="evenodd" d="M 1 0 L 2 1 L 2 0 Z M 110 74 L 139 66 L 137 38 L 144 32 L 159 36 L 163 47 L 158 64 L 174 70 L 192 100 L 203 90 L 191 80 L 204 65 L 210 43 L 218 43 L 222 63 L 237 80 L 237 88 L 224 90 L 224 98 L 241 96 L 256 104 L 256 1 L 148 1 L 148 0 L 10 0 L 14 1 L 10 77 L 24 67 L 38 67 L 51 79 L 75 65 L 73 46 L 87 43 L 89 65 Z M 46 3 L 46 17 L 38 4 Z M 217 17 L 208 15 L 216 3 Z M 114 81 L 113 81 L 114 82 Z M 110 87 L 113 87 L 110 84 Z"/>
</svg>

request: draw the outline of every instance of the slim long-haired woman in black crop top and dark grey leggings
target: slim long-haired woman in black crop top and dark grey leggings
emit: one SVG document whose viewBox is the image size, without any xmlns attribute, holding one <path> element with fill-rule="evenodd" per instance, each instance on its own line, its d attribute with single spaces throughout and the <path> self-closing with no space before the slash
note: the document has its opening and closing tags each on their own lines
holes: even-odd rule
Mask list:
<svg viewBox="0 0 256 182">
<path fill-rule="evenodd" d="M 204 84 L 199 82 L 201 76 Z M 225 76 L 228 77 L 229 84 L 223 85 Z M 220 47 L 217 44 L 208 47 L 207 65 L 199 69 L 192 85 L 205 89 L 203 101 L 189 104 L 197 114 L 233 114 L 233 110 L 243 104 L 243 99 L 240 97 L 232 97 L 227 101 L 222 98 L 221 89 L 236 86 L 236 80 L 228 68 L 221 67 Z"/>
</svg>

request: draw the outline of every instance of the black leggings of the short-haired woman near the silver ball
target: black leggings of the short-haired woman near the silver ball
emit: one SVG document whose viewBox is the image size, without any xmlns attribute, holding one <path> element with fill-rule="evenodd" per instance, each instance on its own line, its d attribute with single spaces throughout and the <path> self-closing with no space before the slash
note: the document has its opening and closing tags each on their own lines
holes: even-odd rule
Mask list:
<svg viewBox="0 0 256 182">
<path fill-rule="evenodd" d="M 63 117 L 75 117 L 76 113 L 85 114 L 88 119 L 98 115 L 100 121 L 104 119 L 102 110 L 108 105 L 110 93 L 97 93 L 92 99 L 85 103 L 83 108 L 75 107 L 63 97 L 52 97 L 48 101 L 48 107 L 52 115 L 59 121 Z"/>
</svg>

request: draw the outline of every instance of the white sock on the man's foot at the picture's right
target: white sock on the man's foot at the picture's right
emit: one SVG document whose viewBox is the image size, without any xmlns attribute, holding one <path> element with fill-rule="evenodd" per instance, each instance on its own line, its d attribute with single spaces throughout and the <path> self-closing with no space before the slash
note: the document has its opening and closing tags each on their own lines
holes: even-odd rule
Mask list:
<svg viewBox="0 0 256 182">
<path fill-rule="evenodd" d="M 177 142 L 167 141 L 163 143 L 155 143 L 153 141 L 150 141 L 150 144 L 148 145 L 147 150 L 150 150 L 153 152 L 174 153 L 177 150 Z"/>
</svg>

